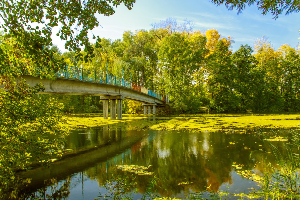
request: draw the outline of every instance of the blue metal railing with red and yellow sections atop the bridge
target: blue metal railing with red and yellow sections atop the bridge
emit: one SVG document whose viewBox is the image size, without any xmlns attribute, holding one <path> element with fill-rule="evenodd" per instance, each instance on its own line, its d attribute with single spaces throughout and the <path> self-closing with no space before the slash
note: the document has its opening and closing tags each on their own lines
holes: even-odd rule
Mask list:
<svg viewBox="0 0 300 200">
<path fill-rule="evenodd" d="M 149 89 L 146 89 L 143 86 L 140 86 L 136 83 L 130 82 L 128 80 L 125 80 L 123 78 L 119 78 L 116 76 L 112 76 L 109 74 L 100 73 L 100 72 L 96 72 L 96 71 L 92 71 L 92 70 L 87 70 L 87 69 L 83 69 L 80 67 L 65 65 L 64 69 L 59 69 L 55 73 L 55 76 L 90 81 L 90 82 L 97 82 L 97 83 L 121 85 L 123 87 L 131 88 L 131 89 L 149 94 L 153 97 L 158 97 L 159 99 L 162 99 L 160 95 L 158 96 L 155 92 L 153 92 Z M 164 99 L 164 97 L 163 97 L 163 99 Z"/>
</svg>

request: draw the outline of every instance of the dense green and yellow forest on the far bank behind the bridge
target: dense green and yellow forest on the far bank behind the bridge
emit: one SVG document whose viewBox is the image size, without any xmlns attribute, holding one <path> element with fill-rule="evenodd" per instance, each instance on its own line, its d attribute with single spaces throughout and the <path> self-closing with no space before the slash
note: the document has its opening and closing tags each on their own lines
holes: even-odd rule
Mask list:
<svg viewBox="0 0 300 200">
<path fill-rule="evenodd" d="M 67 65 L 83 64 L 97 72 L 105 72 L 107 66 L 107 73 L 122 77 L 123 70 L 128 80 L 131 72 L 132 82 L 170 94 L 173 112 L 300 110 L 299 49 L 283 44 L 275 50 L 263 36 L 254 49 L 245 44 L 233 52 L 232 37 L 222 37 L 216 29 L 193 31 L 188 20 L 169 18 L 152 27 L 125 31 L 122 40 L 102 38 L 102 48 L 95 48 L 95 57 L 87 63 L 75 59 L 73 51 L 61 53 L 57 46 L 52 50 Z M 97 96 L 55 97 L 64 104 L 64 112 L 102 110 Z M 137 102 L 123 104 L 123 112 L 142 111 Z"/>
</svg>

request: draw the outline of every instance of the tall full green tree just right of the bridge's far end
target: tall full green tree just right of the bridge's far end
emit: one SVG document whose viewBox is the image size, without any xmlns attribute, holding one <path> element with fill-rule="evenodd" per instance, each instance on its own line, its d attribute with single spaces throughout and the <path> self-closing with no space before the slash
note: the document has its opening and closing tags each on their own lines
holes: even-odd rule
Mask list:
<svg viewBox="0 0 300 200">
<path fill-rule="evenodd" d="M 165 94 L 172 94 L 174 108 L 180 112 L 192 111 L 192 104 L 199 104 L 195 100 L 193 88 L 193 74 L 199 69 L 204 55 L 206 39 L 201 34 L 173 33 L 164 37 L 159 49 L 158 58 L 163 72 Z M 193 107 L 193 109 L 195 109 Z"/>
</svg>

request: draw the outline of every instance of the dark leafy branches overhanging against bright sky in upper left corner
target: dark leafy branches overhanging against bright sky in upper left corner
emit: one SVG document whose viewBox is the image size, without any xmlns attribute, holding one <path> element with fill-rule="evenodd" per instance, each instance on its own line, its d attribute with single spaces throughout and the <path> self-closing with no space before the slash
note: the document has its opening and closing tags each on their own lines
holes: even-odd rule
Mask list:
<svg viewBox="0 0 300 200">
<path fill-rule="evenodd" d="M 83 46 L 87 52 L 83 59 L 88 61 L 94 56 L 88 31 L 99 25 L 95 14 L 110 16 L 115 12 L 114 7 L 124 3 L 131 9 L 134 2 L 135 0 L 0 0 L 0 27 L 8 33 L 7 38 L 14 40 L 26 34 L 26 37 L 30 37 L 29 40 L 35 40 L 32 41 L 36 44 L 35 50 L 52 46 L 51 35 L 56 34 L 61 40 L 65 40 L 65 49 L 75 51 L 78 57 L 83 56 L 80 53 Z M 101 39 L 94 35 L 93 39 L 96 38 L 95 48 L 101 47 Z"/>
</svg>

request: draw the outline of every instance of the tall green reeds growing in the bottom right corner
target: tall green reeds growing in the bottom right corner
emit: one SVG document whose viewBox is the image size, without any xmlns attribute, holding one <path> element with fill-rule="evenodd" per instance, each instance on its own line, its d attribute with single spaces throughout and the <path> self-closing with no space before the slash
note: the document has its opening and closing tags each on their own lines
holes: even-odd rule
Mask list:
<svg viewBox="0 0 300 200">
<path fill-rule="evenodd" d="M 272 143 L 273 140 L 262 134 L 265 143 L 271 149 L 271 152 L 265 152 L 274 157 L 277 163 L 276 166 L 271 163 L 266 164 L 266 173 L 262 181 L 262 187 L 258 191 L 253 192 L 264 199 L 300 198 L 300 129 L 293 130 L 291 133 L 292 136 L 289 138 L 291 142 L 281 142 L 280 148 Z M 275 132 L 274 134 L 275 137 L 278 137 Z"/>
</svg>

